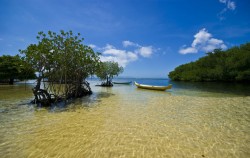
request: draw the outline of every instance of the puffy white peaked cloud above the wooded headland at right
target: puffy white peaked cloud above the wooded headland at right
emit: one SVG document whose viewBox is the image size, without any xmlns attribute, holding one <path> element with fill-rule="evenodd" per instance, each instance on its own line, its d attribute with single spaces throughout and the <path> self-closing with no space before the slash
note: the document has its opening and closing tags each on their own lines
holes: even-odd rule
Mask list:
<svg viewBox="0 0 250 158">
<path fill-rule="evenodd" d="M 227 46 L 223 40 L 212 38 L 212 34 L 209 33 L 205 28 L 201 29 L 197 34 L 194 35 L 194 40 L 190 47 L 183 46 L 179 53 L 197 53 L 198 51 L 211 52 L 214 49 L 221 48 L 226 49 Z"/>
</svg>

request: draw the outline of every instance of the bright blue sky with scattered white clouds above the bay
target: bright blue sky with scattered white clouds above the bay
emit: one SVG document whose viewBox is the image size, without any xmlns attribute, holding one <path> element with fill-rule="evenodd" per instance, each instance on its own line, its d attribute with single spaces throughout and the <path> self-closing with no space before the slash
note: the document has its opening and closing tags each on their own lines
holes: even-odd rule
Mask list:
<svg viewBox="0 0 250 158">
<path fill-rule="evenodd" d="M 216 48 L 250 42 L 249 0 L 0 0 L 0 55 L 37 43 L 39 31 L 81 33 L 124 67 L 121 77 L 167 78 Z"/>
</svg>

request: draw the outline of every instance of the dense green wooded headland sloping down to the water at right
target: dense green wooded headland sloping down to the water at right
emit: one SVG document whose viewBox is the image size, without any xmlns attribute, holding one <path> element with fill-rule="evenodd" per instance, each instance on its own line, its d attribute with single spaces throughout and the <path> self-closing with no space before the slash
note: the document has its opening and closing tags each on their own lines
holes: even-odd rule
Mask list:
<svg viewBox="0 0 250 158">
<path fill-rule="evenodd" d="M 250 81 L 250 43 L 226 51 L 215 49 L 195 62 L 176 67 L 168 76 L 174 81 Z"/>
</svg>

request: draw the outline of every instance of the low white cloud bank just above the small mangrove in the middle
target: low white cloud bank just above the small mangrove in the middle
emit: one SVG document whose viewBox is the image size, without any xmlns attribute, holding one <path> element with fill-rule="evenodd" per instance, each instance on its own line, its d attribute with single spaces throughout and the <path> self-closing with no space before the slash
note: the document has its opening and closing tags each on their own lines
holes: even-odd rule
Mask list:
<svg viewBox="0 0 250 158">
<path fill-rule="evenodd" d="M 114 61 L 122 67 L 126 67 L 130 62 L 136 61 L 139 58 L 149 58 L 155 52 L 153 46 L 141 46 L 131 41 L 122 42 L 123 49 L 117 49 L 113 45 L 106 44 L 105 47 L 99 48 L 94 44 L 89 46 L 93 49 L 101 51 L 101 61 Z M 130 47 L 130 50 L 127 50 Z M 132 50 L 131 50 L 132 49 Z"/>
</svg>

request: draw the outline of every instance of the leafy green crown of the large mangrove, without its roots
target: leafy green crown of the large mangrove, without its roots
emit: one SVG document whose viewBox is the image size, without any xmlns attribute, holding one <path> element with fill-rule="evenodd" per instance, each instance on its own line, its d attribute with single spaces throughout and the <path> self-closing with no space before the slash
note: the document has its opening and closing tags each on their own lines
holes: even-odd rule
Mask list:
<svg viewBox="0 0 250 158">
<path fill-rule="evenodd" d="M 85 79 L 98 67 L 98 55 L 82 44 L 79 33 L 75 36 L 72 31 L 61 31 L 60 34 L 49 31 L 47 35 L 39 32 L 37 39 L 38 44 L 31 44 L 21 53 L 36 71 L 43 75 L 46 72 L 49 79 L 61 79 L 62 74 L 68 79 L 73 74 Z"/>
</svg>

